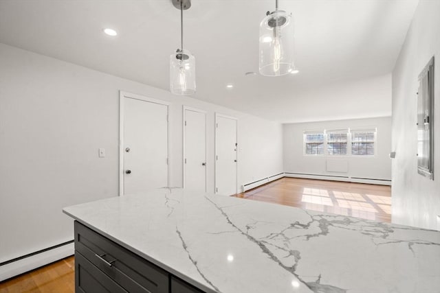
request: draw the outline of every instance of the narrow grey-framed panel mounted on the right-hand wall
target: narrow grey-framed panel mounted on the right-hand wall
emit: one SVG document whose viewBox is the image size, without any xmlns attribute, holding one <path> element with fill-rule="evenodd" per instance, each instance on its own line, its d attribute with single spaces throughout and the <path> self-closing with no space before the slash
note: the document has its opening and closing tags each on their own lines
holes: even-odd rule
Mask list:
<svg viewBox="0 0 440 293">
<path fill-rule="evenodd" d="M 434 131 L 434 57 L 419 75 L 417 93 L 417 172 L 432 179 Z"/>
</svg>

